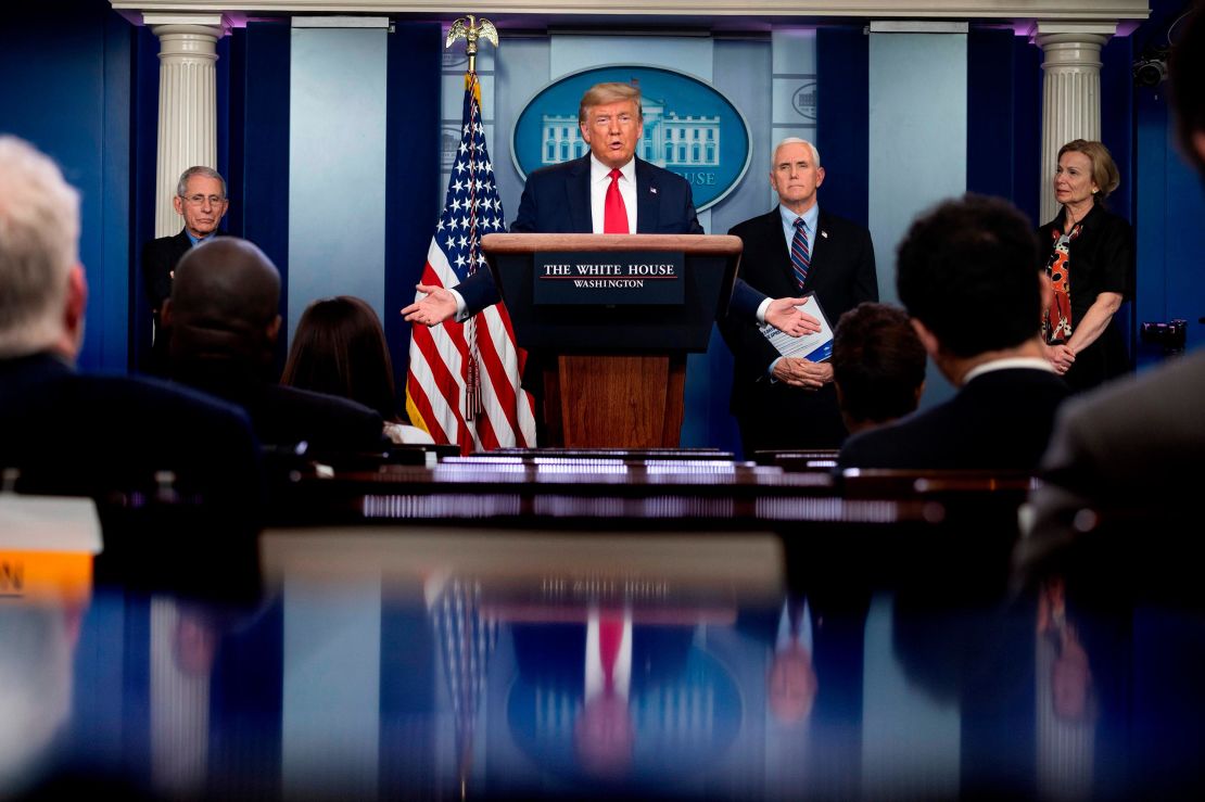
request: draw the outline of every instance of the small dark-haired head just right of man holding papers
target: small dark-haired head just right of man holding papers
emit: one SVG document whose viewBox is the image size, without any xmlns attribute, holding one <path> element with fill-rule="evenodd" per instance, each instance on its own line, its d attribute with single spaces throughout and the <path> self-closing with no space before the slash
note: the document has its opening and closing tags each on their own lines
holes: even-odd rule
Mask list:
<svg viewBox="0 0 1205 802">
<path fill-rule="evenodd" d="M 866 301 L 836 324 L 833 379 L 852 420 L 886 423 L 915 411 L 924 366 L 924 346 L 899 307 Z"/>
</svg>

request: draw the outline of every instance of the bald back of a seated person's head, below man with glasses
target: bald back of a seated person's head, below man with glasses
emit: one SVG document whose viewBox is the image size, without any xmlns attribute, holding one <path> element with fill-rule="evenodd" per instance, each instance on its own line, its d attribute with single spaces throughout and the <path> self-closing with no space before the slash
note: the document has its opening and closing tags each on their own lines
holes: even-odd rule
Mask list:
<svg viewBox="0 0 1205 802">
<path fill-rule="evenodd" d="M 189 250 L 171 289 L 174 370 L 196 362 L 271 360 L 281 276 L 253 243 L 218 237 Z"/>
</svg>

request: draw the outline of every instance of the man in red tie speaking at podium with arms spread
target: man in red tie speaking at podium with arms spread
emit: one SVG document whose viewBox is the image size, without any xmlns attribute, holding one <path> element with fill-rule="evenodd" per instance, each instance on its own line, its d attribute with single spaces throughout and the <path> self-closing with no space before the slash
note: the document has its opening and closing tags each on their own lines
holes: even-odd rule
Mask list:
<svg viewBox="0 0 1205 802">
<path fill-rule="evenodd" d="M 635 155 L 643 135 L 640 89 L 599 83 L 582 95 L 577 110 L 589 155 L 536 170 L 528 177 L 512 234 L 703 234 L 690 184 Z M 434 326 L 464 320 L 500 300 L 488 270 L 454 288 L 417 287 L 427 296 L 405 307 L 410 323 Z M 737 279 L 731 312 L 739 319 L 769 323 L 792 336 L 818 330 L 795 306 L 801 299 L 771 300 Z"/>
</svg>

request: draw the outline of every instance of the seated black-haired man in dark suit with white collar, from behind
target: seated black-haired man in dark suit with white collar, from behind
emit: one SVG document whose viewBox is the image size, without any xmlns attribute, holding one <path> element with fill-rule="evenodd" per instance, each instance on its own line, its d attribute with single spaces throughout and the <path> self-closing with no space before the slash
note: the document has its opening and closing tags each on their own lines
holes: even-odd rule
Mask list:
<svg viewBox="0 0 1205 802">
<path fill-rule="evenodd" d="M 898 288 L 921 343 L 958 394 L 851 437 L 840 467 L 1033 470 L 1068 387 L 1042 359 L 1051 293 L 1038 241 L 1011 204 L 966 195 L 917 219 Z"/>
</svg>

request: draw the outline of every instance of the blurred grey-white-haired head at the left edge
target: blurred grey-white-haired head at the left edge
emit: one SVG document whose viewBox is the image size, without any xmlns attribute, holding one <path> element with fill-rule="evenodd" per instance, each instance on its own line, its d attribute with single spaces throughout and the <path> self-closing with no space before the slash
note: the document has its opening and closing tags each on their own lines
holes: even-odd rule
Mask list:
<svg viewBox="0 0 1205 802">
<path fill-rule="evenodd" d="M 78 193 L 33 146 L 0 136 L 0 358 L 60 337 L 78 248 Z"/>
</svg>

